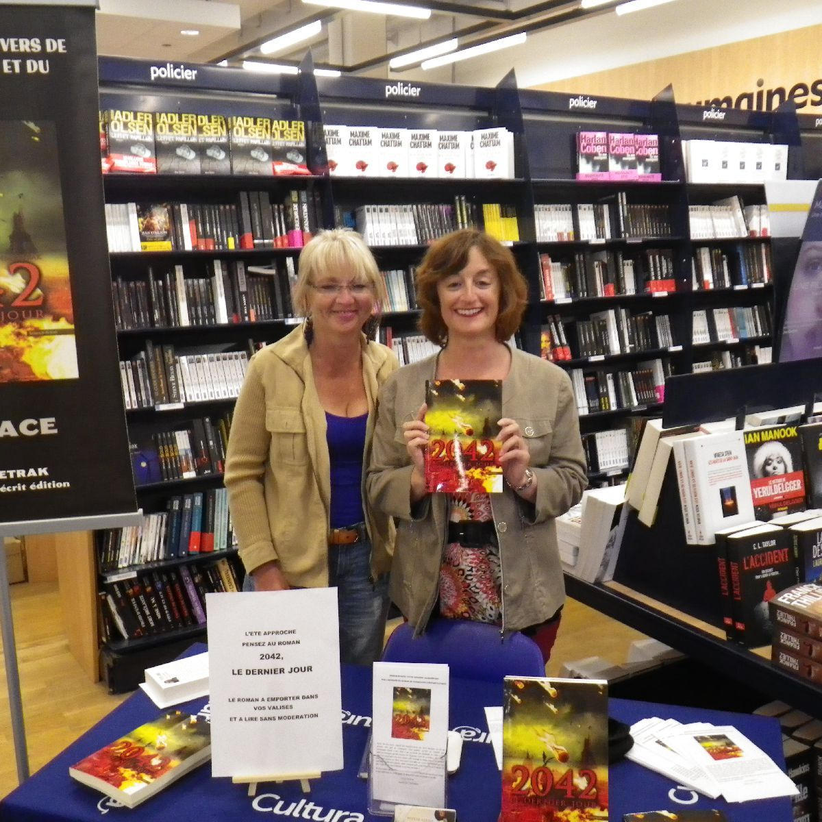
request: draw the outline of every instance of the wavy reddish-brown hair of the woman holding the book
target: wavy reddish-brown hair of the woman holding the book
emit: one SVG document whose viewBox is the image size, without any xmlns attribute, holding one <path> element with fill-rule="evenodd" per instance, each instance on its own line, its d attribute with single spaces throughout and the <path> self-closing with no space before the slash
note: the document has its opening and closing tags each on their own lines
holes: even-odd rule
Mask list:
<svg viewBox="0 0 822 822">
<path fill-rule="evenodd" d="M 417 302 L 423 310 L 419 330 L 436 345 L 448 342 L 448 328 L 442 320 L 436 286 L 441 279 L 464 269 L 472 248 L 485 257 L 500 278 L 500 310 L 494 324 L 497 341 L 503 343 L 510 339 L 522 322 L 528 302 L 528 284 L 520 274 L 510 248 L 483 231 L 461 229 L 434 242 L 417 269 Z"/>
</svg>

